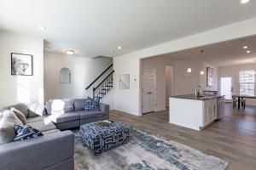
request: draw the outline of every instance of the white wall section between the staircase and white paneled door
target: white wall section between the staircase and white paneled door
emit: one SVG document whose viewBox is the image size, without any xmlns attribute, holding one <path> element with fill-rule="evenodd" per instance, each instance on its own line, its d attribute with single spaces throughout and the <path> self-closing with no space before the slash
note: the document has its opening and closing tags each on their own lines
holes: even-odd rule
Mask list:
<svg viewBox="0 0 256 170">
<path fill-rule="evenodd" d="M 113 108 L 115 110 L 141 116 L 140 68 L 139 58 L 125 56 L 113 58 Z M 130 89 L 119 88 L 119 76 L 122 74 L 130 74 Z"/>
</svg>

